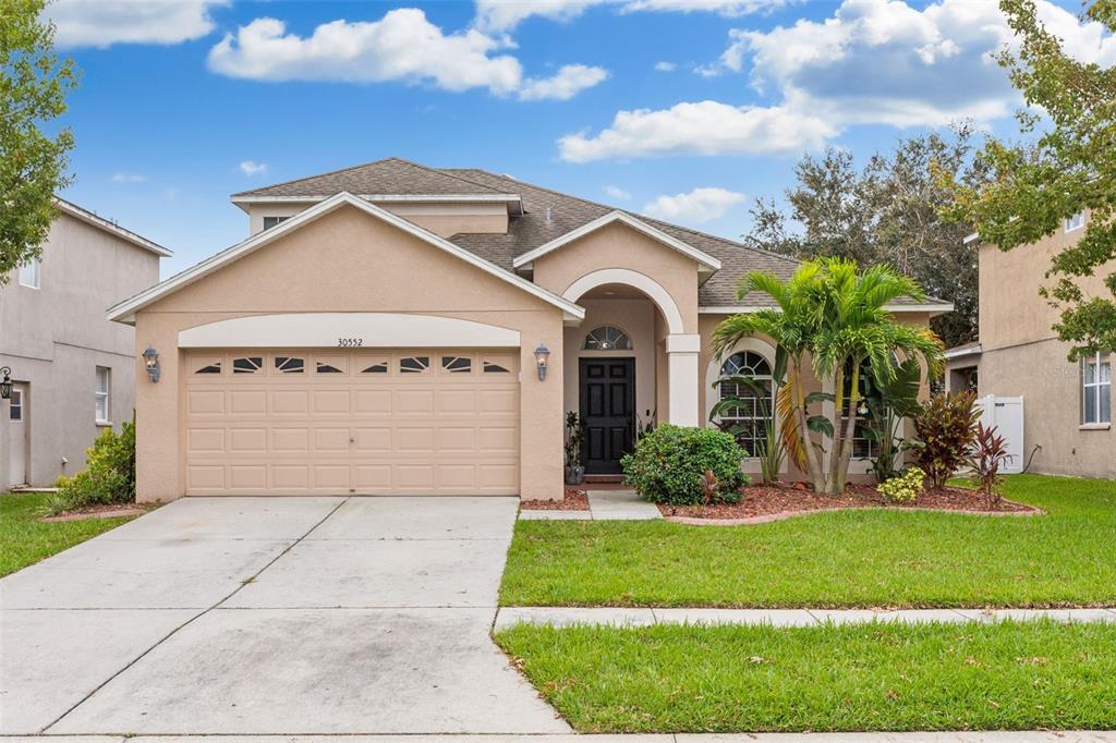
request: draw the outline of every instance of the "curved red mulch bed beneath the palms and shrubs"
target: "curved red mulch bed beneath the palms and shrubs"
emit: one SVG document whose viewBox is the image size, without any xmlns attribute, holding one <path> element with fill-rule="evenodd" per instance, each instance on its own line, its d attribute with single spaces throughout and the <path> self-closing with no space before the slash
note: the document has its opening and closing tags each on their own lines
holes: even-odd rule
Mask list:
<svg viewBox="0 0 1116 743">
<path fill-rule="evenodd" d="M 942 488 L 926 490 L 911 504 L 888 503 L 873 485 L 849 485 L 840 495 L 815 495 L 804 484 L 754 485 L 742 488 L 743 498 L 739 503 L 706 505 L 661 504 L 664 517 L 705 522 L 725 520 L 754 520 L 756 522 L 799 515 L 811 511 L 835 511 L 841 509 L 886 508 L 895 510 L 960 511 L 982 514 L 1035 514 L 1042 511 L 1023 503 L 1001 499 L 990 504 L 973 490 Z"/>
</svg>

